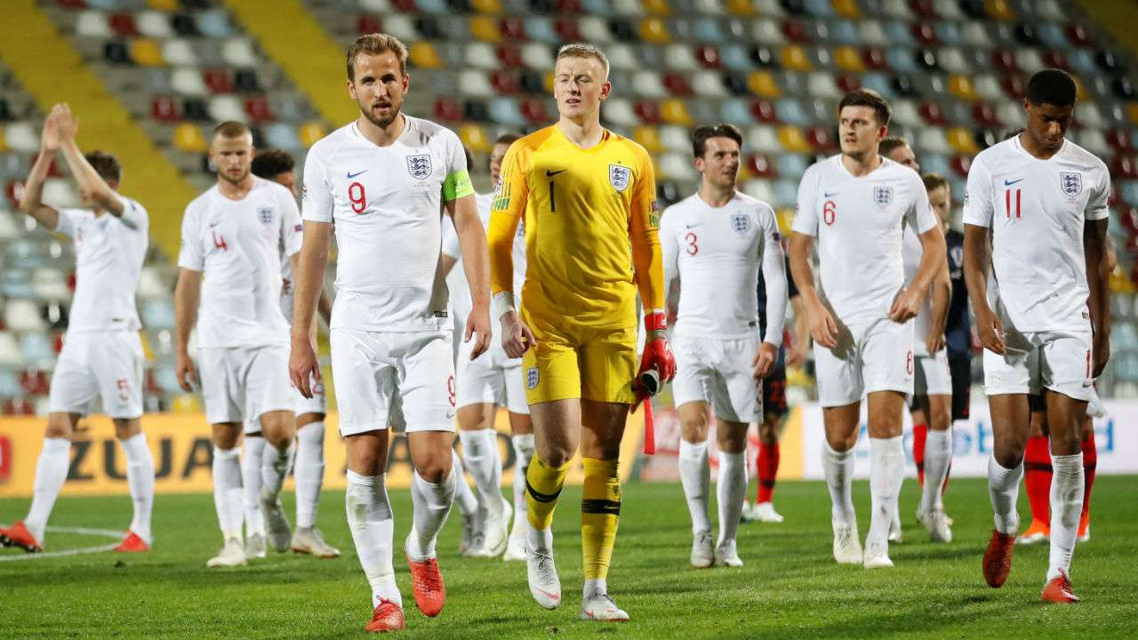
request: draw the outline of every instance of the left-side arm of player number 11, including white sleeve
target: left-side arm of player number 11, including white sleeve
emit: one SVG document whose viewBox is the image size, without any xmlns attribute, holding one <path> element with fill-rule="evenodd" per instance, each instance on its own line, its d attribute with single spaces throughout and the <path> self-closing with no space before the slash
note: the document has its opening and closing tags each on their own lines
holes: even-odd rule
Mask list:
<svg viewBox="0 0 1138 640">
<path fill-rule="evenodd" d="M 1004 355 L 1004 325 L 988 306 L 988 270 L 991 268 L 991 177 L 982 163 L 973 162 L 964 191 L 964 284 L 976 319 L 976 336 L 984 348 Z"/>
</svg>

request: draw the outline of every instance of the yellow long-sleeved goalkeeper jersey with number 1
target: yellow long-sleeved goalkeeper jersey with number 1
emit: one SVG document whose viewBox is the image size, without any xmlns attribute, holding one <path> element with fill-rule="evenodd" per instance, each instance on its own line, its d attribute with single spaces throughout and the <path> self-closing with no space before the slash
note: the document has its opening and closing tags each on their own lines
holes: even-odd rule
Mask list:
<svg viewBox="0 0 1138 640">
<path fill-rule="evenodd" d="M 605 130 L 583 149 L 555 124 L 511 145 L 490 208 L 495 294 L 513 290 L 511 246 L 522 215 L 523 317 L 634 327 L 637 289 L 646 309 L 663 307 L 655 177 L 644 147 Z"/>
</svg>

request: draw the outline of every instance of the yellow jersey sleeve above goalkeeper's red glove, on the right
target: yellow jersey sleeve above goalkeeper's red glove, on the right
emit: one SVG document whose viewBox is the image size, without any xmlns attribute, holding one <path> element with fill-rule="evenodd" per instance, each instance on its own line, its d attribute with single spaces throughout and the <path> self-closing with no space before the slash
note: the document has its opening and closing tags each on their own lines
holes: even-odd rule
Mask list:
<svg viewBox="0 0 1138 640">
<path fill-rule="evenodd" d="M 633 186 L 628 220 L 633 246 L 633 269 L 645 313 L 663 311 L 663 256 L 660 252 L 660 208 L 655 200 L 652 158 L 640 151 L 640 178 Z"/>
</svg>

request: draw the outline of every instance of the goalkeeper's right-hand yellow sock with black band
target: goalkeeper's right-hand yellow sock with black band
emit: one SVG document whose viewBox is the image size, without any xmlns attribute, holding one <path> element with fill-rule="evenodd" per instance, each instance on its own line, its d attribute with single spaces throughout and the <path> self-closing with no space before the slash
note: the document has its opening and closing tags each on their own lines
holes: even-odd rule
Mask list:
<svg viewBox="0 0 1138 640">
<path fill-rule="evenodd" d="M 605 580 L 620 519 L 617 460 L 583 458 L 585 486 L 580 501 L 580 544 L 585 580 Z"/>
</svg>

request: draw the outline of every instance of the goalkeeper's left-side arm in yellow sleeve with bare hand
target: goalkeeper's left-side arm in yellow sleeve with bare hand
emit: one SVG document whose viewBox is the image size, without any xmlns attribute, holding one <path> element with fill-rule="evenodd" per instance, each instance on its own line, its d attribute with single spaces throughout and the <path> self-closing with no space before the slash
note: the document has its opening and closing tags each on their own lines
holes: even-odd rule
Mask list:
<svg viewBox="0 0 1138 640">
<path fill-rule="evenodd" d="M 490 205 L 487 245 L 494 314 L 502 320 L 502 348 L 510 358 L 521 358 L 534 344 L 534 334 L 521 319 L 513 295 L 513 237 L 526 212 L 529 184 L 521 145 L 514 142 L 502 161 L 501 182 Z"/>
</svg>

